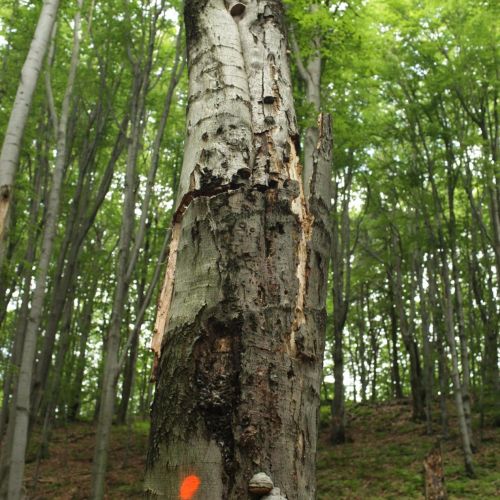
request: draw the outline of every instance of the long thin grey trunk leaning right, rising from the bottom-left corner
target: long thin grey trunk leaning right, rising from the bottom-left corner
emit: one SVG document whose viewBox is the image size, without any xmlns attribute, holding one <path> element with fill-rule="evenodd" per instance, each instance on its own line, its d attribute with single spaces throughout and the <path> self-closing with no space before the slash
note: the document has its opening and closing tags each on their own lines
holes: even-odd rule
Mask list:
<svg viewBox="0 0 500 500">
<path fill-rule="evenodd" d="M 42 317 L 47 274 L 49 270 L 50 259 L 52 256 L 54 239 L 57 231 L 57 219 L 59 216 L 59 205 L 61 199 L 61 186 L 67 157 L 67 125 L 80 52 L 80 10 L 83 0 L 77 1 L 78 11 L 75 14 L 74 20 L 73 49 L 66 91 L 61 108 L 61 117 L 59 120 L 55 167 L 52 175 L 52 186 L 50 189 L 47 205 L 47 215 L 43 231 L 42 249 L 40 260 L 38 263 L 35 290 L 33 292 L 28 325 L 24 339 L 23 355 L 21 359 L 21 368 L 19 372 L 19 380 L 17 384 L 15 399 L 16 405 L 13 412 L 15 423 L 8 480 L 7 498 L 9 500 L 17 500 L 20 497 L 24 476 L 24 461 L 26 454 L 26 445 L 28 441 L 30 392 L 33 376 L 33 363 L 36 354 L 37 333 Z"/>
</svg>

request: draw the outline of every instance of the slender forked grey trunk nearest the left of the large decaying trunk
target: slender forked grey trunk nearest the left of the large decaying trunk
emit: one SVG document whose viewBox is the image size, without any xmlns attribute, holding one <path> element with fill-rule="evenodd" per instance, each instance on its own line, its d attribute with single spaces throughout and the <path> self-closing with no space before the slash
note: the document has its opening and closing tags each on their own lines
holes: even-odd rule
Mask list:
<svg viewBox="0 0 500 500">
<path fill-rule="evenodd" d="M 92 464 L 92 498 L 100 500 L 104 496 L 105 475 L 107 468 L 107 454 L 111 425 L 113 421 L 116 383 L 121 367 L 124 364 L 127 350 L 131 347 L 134 335 L 138 335 L 139 326 L 132 331 L 132 337 L 129 337 L 122 356 L 119 356 L 120 330 L 122 317 L 125 310 L 125 303 L 128 294 L 128 288 L 132 274 L 137 263 L 140 249 L 145 236 L 146 222 L 155 176 L 158 169 L 159 149 L 162 136 L 166 127 L 168 114 L 173 98 L 174 89 L 180 79 L 183 71 L 181 63 L 181 33 L 177 37 L 177 52 L 171 73 L 171 82 L 167 91 L 162 118 L 160 121 L 159 132 L 155 139 L 153 147 L 152 162 L 148 172 L 146 185 L 146 194 L 142 201 L 141 218 L 138 229 L 135 234 L 135 242 L 132 245 L 134 236 L 134 205 L 135 205 L 135 178 L 136 162 L 141 144 L 141 136 L 144 127 L 145 100 L 149 91 L 149 78 L 151 65 L 155 49 L 155 38 L 157 30 L 157 21 L 164 5 L 157 6 L 149 19 L 149 32 L 147 47 L 145 47 L 142 60 L 132 61 L 134 65 L 134 89 L 132 98 L 132 119 L 131 119 L 131 141 L 128 148 L 127 172 L 125 178 L 125 197 L 123 205 L 123 214 L 121 221 L 119 259 L 117 266 L 117 285 L 113 303 L 111 322 L 106 340 L 106 355 L 103 368 L 102 393 L 99 403 L 99 416 L 96 432 L 96 446 L 94 450 L 94 459 Z M 141 67 L 142 65 L 142 67 Z M 131 248 L 132 247 L 132 248 Z M 148 299 L 149 301 L 149 299 Z M 144 314 L 144 311 L 142 312 Z"/>
</svg>

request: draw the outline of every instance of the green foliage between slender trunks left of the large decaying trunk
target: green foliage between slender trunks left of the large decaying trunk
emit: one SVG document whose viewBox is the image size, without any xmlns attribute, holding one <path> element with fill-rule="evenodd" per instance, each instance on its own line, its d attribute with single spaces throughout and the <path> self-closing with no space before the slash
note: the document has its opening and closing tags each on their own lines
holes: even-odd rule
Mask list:
<svg viewBox="0 0 500 500">
<path fill-rule="evenodd" d="M 28 5 L 29 4 L 29 5 Z M 11 103 L 17 88 L 17 78 L 33 36 L 33 29 L 39 14 L 39 7 L 29 2 L 16 0 L 2 2 L 0 8 L 0 137 L 5 130 Z M 41 4 L 40 4 L 41 5 Z M 27 272 L 27 250 L 40 243 L 40 228 L 44 222 L 44 208 L 55 154 L 55 137 L 47 101 L 47 80 L 50 76 L 56 112 L 66 86 L 72 47 L 72 18 L 76 8 L 74 2 L 61 2 L 57 31 L 52 55 L 45 62 L 38 81 L 37 91 L 23 141 L 20 167 L 16 178 L 11 246 L 6 266 L 8 305 L 0 299 L 0 357 L 2 374 L 8 369 L 8 352 L 3 346 L 12 346 L 18 311 L 22 300 L 24 277 Z M 136 215 L 144 196 L 146 175 L 151 162 L 153 141 L 163 109 L 163 102 L 170 82 L 175 57 L 180 2 L 163 3 L 163 12 L 158 20 L 158 35 L 151 67 L 151 84 L 146 96 L 146 126 L 142 137 L 141 153 L 137 164 Z M 69 127 L 69 148 L 63 185 L 63 200 L 59 218 L 59 229 L 54 245 L 51 272 L 46 299 L 46 314 L 50 313 L 52 297 L 50 291 L 60 280 L 60 261 L 67 252 L 70 228 L 75 221 L 87 217 L 92 210 L 106 168 L 116 147 L 120 127 L 124 118 L 130 115 L 130 96 L 134 77 L 133 61 L 143 57 L 148 30 L 150 29 L 152 7 L 150 2 L 84 2 L 82 13 L 82 44 L 77 71 L 75 97 Z M 140 254 L 129 293 L 130 321 L 137 313 L 139 283 L 145 274 L 146 284 L 153 274 L 162 241 L 170 224 L 170 211 L 177 178 L 182 162 L 184 140 L 184 115 L 187 94 L 186 75 L 177 87 L 167 129 L 160 151 L 160 165 L 154 188 L 153 201 L 148 215 L 147 252 Z M 126 130 L 123 130 L 126 132 Z M 70 350 L 66 356 L 65 376 L 61 387 L 59 415 L 66 413 L 73 393 L 75 363 L 79 356 L 79 338 L 85 324 L 82 318 L 85 304 L 89 300 L 91 283 L 97 279 L 92 318 L 89 325 L 85 356 L 85 377 L 81 415 L 91 417 L 99 393 L 99 376 L 103 334 L 109 322 L 115 285 L 117 241 L 120 234 L 121 202 L 126 162 L 126 145 L 112 173 L 110 188 L 104 203 L 99 208 L 92 227 L 85 237 L 78 258 L 74 286 L 73 325 Z M 41 185 L 40 210 L 30 223 L 30 210 L 36 203 L 37 182 Z M 82 194 L 79 190 L 83 189 Z M 136 221 L 137 224 L 137 221 Z M 36 262 L 36 260 L 35 260 Z M 31 264 L 29 264 L 31 265 Z M 19 279 L 22 277 L 23 279 Z M 3 277 L 2 277 L 3 280 Z M 0 286 L 0 293 L 5 290 Z M 143 332 L 152 332 L 154 304 L 149 308 L 143 325 Z M 3 307 L 8 307 L 3 319 Z M 123 325 L 124 338 L 128 325 Z M 43 340 L 43 335 L 41 335 Z M 141 336 L 138 371 L 149 372 L 151 356 L 148 349 L 150 333 Z M 57 344 L 56 344 L 57 346 Z M 40 348 L 42 344 L 40 343 Z M 143 366 L 144 364 L 144 366 Z M 3 379 L 3 377 L 2 377 Z M 145 402 L 143 401 L 142 404 Z M 139 401 L 133 403 L 132 411 Z"/>
</svg>

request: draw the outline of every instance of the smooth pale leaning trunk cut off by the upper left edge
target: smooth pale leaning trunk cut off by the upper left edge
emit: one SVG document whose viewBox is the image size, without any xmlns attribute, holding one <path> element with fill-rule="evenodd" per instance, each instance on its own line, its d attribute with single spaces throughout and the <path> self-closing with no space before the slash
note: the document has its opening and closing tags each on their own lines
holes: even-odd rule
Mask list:
<svg viewBox="0 0 500 500">
<path fill-rule="evenodd" d="M 8 226 L 14 177 L 19 163 L 24 128 L 33 100 L 38 75 L 49 46 L 59 0 L 45 0 L 33 35 L 0 153 L 0 269 Z"/>
</svg>

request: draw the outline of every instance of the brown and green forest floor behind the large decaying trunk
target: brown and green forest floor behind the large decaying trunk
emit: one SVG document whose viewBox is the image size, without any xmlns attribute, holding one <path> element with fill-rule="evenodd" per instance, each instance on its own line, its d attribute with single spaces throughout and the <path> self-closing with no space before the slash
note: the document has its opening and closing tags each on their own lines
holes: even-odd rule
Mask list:
<svg viewBox="0 0 500 500">
<path fill-rule="evenodd" d="M 452 421 L 452 429 L 454 426 Z M 147 434 L 146 422 L 114 427 L 106 498 L 142 498 Z M 427 436 L 423 424 L 411 421 L 408 404 L 358 404 L 349 408 L 349 435 L 351 442 L 332 447 L 327 428 L 323 428 L 318 453 L 318 500 L 423 498 L 422 461 L 436 436 Z M 50 458 L 40 463 L 36 490 L 32 481 L 36 454 L 30 452 L 28 498 L 88 498 L 93 445 L 91 424 L 56 429 Z M 459 436 L 452 430 L 450 439 L 443 442 L 450 498 L 500 498 L 500 428 L 484 430 L 474 458 L 477 479 L 471 480 L 463 473 Z"/>
</svg>

